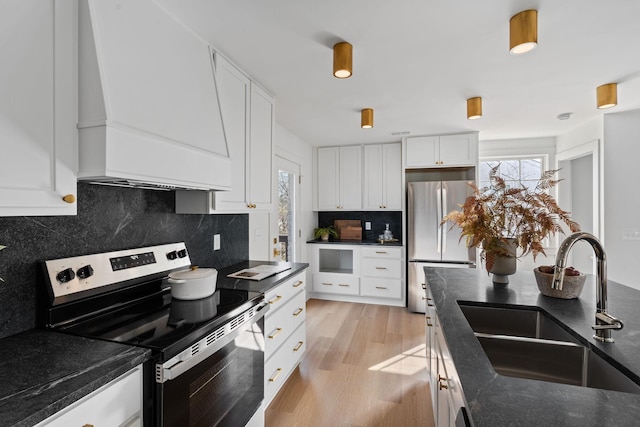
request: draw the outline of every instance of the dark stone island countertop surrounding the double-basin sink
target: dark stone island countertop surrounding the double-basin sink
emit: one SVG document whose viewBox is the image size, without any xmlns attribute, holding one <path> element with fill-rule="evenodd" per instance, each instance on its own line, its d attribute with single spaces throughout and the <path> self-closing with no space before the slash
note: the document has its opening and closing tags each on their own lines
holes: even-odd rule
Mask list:
<svg viewBox="0 0 640 427">
<path fill-rule="evenodd" d="M 609 281 L 608 311 L 624 322 L 613 331 L 614 343 L 595 341 L 595 278 L 587 277 L 580 298 L 561 300 L 538 291 L 532 271 L 510 276 L 507 286 L 493 285 L 484 269 L 425 267 L 444 338 L 460 376 L 476 427 L 491 426 L 632 426 L 640 423 L 640 395 L 497 374 L 458 301 L 540 307 L 581 337 L 583 344 L 640 376 L 640 291 Z"/>
</svg>

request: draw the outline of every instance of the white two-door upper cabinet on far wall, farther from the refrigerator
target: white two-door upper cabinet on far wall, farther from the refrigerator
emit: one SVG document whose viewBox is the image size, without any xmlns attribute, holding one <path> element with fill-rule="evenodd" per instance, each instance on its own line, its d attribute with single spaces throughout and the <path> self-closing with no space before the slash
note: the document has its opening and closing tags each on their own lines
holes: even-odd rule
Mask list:
<svg viewBox="0 0 640 427">
<path fill-rule="evenodd" d="M 321 211 L 362 209 L 362 147 L 317 151 L 317 207 Z"/>
</svg>

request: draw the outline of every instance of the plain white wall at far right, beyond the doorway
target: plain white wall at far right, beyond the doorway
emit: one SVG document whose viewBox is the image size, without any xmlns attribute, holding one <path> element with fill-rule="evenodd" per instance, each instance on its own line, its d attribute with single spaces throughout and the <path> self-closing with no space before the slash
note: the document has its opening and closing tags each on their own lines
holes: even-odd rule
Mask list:
<svg viewBox="0 0 640 427">
<path fill-rule="evenodd" d="M 635 174 L 640 159 L 640 110 L 604 116 L 604 216 L 609 279 L 640 289 L 636 266 L 640 240 L 640 185 Z"/>
</svg>

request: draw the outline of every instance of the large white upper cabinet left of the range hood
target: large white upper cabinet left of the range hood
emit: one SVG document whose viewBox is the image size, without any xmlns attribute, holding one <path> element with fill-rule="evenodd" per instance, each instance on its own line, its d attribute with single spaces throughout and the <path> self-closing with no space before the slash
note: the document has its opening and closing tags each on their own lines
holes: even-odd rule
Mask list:
<svg viewBox="0 0 640 427">
<path fill-rule="evenodd" d="M 2 2 L 0 216 L 76 214 L 76 8 Z"/>
</svg>

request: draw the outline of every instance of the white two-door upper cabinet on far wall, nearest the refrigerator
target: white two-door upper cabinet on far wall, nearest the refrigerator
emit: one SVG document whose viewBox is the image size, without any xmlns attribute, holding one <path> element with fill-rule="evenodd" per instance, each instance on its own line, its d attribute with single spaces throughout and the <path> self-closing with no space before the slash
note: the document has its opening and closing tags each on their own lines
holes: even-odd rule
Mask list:
<svg viewBox="0 0 640 427">
<path fill-rule="evenodd" d="M 402 146 L 363 146 L 365 210 L 402 210 Z"/>
</svg>

